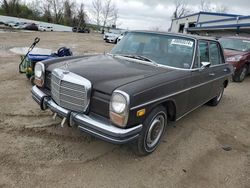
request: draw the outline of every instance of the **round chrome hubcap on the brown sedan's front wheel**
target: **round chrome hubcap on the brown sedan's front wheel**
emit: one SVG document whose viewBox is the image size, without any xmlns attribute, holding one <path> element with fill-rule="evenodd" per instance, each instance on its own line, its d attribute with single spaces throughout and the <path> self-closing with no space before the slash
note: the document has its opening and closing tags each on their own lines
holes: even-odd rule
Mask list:
<svg viewBox="0 0 250 188">
<path fill-rule="evenodd" d="M 162 132 L 164 130 L 165 117 L 163 115 L 157 115 L 150 124 L 146 144 L 148 148 L 153 148 L 157 145 L 161 138 Z"/>
</svg>

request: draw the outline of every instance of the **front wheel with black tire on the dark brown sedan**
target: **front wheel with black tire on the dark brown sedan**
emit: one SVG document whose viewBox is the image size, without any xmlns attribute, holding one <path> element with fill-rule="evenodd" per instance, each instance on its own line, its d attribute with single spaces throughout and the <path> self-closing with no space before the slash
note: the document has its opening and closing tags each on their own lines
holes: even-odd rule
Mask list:
<svg viewBox="0 0 250 188">
<path fill-rule="evenodd" d="M 163 106 L 156 107 L 145 119 L 142 131 L 134 145 L 137 155 L 145 156 L 157 148 L 167 126 L 167 111 Z"/>
</svg>

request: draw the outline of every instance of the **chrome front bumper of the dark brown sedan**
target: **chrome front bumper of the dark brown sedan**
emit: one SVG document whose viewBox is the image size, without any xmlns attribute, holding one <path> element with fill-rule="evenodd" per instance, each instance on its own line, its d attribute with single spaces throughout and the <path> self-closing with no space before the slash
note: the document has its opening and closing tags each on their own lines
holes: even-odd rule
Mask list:
<svg viewBox="0 0 250 188">
<path fill-rule="evenodd" d="M 142 125 L 128 129 L 118 128 L 112 125 L 109 120 L 97 115 L 85 115 L 62 108 L 37 86 L 32 87 L 31 93 L 32 98 L 42 110 L 49 108 L 60 117 L 66 118 L 70 125 L 77 125 L 80 130 L 111 143 L 124 144 L 131 142 L 139 136 L 142 129 Z"/>
</svg>

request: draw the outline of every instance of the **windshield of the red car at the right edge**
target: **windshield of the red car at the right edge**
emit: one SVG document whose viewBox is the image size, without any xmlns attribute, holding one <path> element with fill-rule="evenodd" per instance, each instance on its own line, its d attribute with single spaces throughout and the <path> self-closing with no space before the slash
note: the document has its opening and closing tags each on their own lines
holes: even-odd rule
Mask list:
<svg viewBox="0 0 250 188">
<path fill-rule="evenodd" d="M 242 52 L 250 51 L 250 40 L 221 38 L 220 43 L 223 48 Z"/>
</svg>

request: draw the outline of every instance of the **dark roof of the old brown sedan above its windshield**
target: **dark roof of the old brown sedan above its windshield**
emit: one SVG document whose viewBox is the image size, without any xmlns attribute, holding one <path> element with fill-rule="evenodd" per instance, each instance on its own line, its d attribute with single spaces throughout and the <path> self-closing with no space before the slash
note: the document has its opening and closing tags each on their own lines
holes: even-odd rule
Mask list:
<svg viewBox="0 0 250 188">
<path fill-rule="evenodd" d="M 161 35 L 174 35 L 174 36 L 192 38 L 192 39 L 196 39 L 196 40 L 212 40 L 212 41 L 217 42 L 215 37 L 206 37 L 206 36 L 183 34 L 183 33 L 172 33 L 172 32 L 164 32 L 164 31 L 147 31 L 147 30 L 134 30 L 134 31 L 128 31 L 128 32 L 152 33 L 152 34 L 154 33 L 154 34 L 161 34 Z"/>
</svg>

